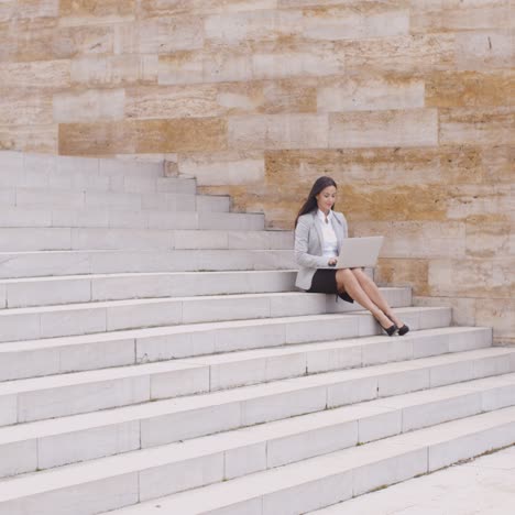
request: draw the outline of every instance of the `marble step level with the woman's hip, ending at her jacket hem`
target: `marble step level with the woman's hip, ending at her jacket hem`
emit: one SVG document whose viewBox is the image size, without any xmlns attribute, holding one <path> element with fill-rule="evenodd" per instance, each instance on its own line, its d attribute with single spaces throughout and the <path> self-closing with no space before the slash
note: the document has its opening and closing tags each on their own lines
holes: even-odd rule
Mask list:
<svg viewBox="0 0 515 515">
<path fill-rule="evenodd" d="M 162 272 L 0 280 L 0 309 L 56 304 L 293 292 L 296 271 Z M 369 269 L 369 275 L 372 270 Z"/>
</svg>

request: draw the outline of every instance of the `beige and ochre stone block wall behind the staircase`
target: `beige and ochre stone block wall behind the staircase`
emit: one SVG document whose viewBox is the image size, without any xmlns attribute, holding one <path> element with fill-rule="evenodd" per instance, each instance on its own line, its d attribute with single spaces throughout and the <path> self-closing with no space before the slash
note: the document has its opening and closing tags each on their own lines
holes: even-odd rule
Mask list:
<svg viewBox="0 0 515 515">
<path fill-rule="evenodd" d="M 292 228 L 331 175 L 377 278 L 515 342 L 513 0 L 1 0 L 0 146 L 166 156 Z"/>
</svg>

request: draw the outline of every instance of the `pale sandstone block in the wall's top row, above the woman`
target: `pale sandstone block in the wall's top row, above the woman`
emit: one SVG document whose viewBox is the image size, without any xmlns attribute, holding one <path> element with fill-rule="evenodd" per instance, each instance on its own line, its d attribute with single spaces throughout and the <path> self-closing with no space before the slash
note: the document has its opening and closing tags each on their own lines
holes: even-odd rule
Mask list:
<svg viewBox="0 0 515 515">
<path fill-rule="evenodd" d="M 388 3 L 361 2 L 304 10 L 303 35 L 314 40 L 355 40 L 409 33 L 409 11 Z"/>
</svg>

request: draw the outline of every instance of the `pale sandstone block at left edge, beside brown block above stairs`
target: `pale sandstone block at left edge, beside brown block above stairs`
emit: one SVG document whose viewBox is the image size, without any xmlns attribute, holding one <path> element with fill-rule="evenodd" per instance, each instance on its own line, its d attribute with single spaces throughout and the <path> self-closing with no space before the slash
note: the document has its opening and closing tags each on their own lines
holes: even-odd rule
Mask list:
<svg viewBox="0 0 515 515">
<path fill-rule="evenodd" d="M 0 150 L 57 153 L 57 125 L 0 125 Z"/>
</svg>

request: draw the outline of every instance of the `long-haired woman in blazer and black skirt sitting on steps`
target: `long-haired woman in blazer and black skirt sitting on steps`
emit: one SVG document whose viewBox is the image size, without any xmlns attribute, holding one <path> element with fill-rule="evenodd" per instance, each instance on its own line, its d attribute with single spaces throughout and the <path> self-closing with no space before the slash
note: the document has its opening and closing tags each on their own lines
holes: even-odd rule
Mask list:
<svg viewBox="0 0 515 515">
<path fill-rule="evenodd" d="M 348 237 L 347 220 L 333 211 L 337 185 L 319 177 L 295 220 L 295 260 L 299 264 L 296 286 L 307 292 L 337 294 L 354 299 L 373 315 L 388 336 L 406 335 L 409 328 L 392 311 L 388 303 L 363 269 L 335 270 L 341 240 Z"/>
</svg>

